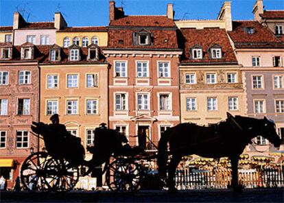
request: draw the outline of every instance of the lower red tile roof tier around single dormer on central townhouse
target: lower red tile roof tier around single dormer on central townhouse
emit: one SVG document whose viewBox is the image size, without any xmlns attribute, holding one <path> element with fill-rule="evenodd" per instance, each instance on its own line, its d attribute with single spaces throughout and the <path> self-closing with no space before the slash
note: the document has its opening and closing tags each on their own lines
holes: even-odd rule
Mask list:
<svg viewBox="0 0 284 203">
<path fill-rule="evenodd" d="M 178 49 L 176 29 L 147 29 L 152 45 L 133 45 L 133 33 L 141 29 L 109 29 L 108 48 L 117 49 Z"/>
</svg>

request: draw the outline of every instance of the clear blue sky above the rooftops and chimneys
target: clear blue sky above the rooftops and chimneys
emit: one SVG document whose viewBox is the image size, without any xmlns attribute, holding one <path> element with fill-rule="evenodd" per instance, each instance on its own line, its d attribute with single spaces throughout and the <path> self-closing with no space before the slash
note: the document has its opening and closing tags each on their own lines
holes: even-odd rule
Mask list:
<svg viewBox="0 0 284 203">
<path fill-rule="evenodd" d="M 230 0 L 233 20 L 251 20 L 256 0 Z M 165 15 L 174 3 L 175 19 L 216 19 L 224 0 L 115 0 L 126 15 Z M 263 0 L 265 10 L 284 10 L 283 0 Z M 13 24 L 19 11 L 28 22 L 54 21 L 60 11 L 68 26 L 108 25 L 108 0 L 0 0 L 0 26 Z"/>
</svg>

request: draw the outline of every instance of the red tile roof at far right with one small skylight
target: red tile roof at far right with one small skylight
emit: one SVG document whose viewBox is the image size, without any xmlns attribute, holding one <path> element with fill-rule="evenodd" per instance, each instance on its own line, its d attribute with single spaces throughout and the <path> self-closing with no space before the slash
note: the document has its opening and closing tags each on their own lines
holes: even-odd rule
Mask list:
<svg viewBox="0 0 284 203">
<path fill-rule="evenodd" d="M 254 29 L 253 34 L 246 32 L 246 27 Z M 268 27 L 257 21 L 233 21 L 233 31 L 228 32 L 236 48 L 283 48 L 284 45 L 276 38 Z"/>
</svg>

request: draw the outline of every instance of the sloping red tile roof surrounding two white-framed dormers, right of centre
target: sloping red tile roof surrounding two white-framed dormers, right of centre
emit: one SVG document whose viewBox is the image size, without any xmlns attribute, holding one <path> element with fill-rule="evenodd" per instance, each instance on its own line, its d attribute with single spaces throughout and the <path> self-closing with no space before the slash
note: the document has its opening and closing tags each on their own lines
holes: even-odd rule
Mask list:
<svg viewBox="0 0 284 203">
<path fill-rule="evenodd" d="M 185 50 L 184 55 L 180 58 L 184 63 L 235 63 L 237 64 L 237 58 L 233 51 L 233 47 L 230 45 L 230 40 L 226 34 L 225 29 L 220 28 L 182 28 L 180 29 L 180 46 Z M 193 46 L 199 46 L 202 48 L 203 58 L 192 59 L 190 56 L 190 50 Z M 221 47 L 222 58 L 210 58 L 209 49 L 213 46 Z"/>
</svg>

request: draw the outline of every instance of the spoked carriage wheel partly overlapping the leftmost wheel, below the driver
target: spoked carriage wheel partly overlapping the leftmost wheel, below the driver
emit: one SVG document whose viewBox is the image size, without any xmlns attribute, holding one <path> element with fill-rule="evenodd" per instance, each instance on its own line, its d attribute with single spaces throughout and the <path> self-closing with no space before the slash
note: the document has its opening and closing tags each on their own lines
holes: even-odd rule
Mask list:
<svg viewBox="0 0 284 203">
<path fill-rule="evenodd" d="M 65 159 L 49 160 L 46 171 L 47 174 L 52 174 L 50 184 L 54 191 L 70 191 L 79 180 L 79 168 L 71 166 Z"/>
</svg>

